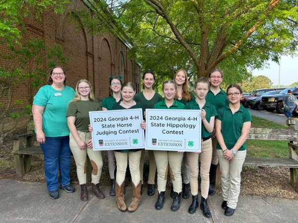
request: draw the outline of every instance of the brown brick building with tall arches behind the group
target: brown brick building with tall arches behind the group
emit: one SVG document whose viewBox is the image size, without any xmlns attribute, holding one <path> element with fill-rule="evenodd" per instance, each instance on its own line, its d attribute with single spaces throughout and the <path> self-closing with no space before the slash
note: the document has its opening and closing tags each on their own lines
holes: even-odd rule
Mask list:
<svg viewBox="0 0 298 223">
<path fill-rule="evenodd" d="M 62 46 L 63 55 L 68 57 L 66 64 L 63 65 L 67 84 L 74 88 L 78 80 L 89 80 L 98 100 L 108 97 L 109 76 L 121 74 L 123 81 L 132 81 L 139 91 L 141 67 L 134 58 L 128 56 L 131 44 L 125 35 L 119 34 L 116 37 L 101 33 L 90 35 L 83 27 L 76 11 L 89 10 L 91 7 L 92 0 L 72 0 L 72 6 L 69 6 L 63 14 L 47 10 L 41 19 L 36 19 L 34 16 L 27 17 L 25 20 L 27 32 L 23 39 L 41 38 L 46 48 L 52 48 L 55 44 Z M 43 66 L 46 66 L 46 63 Z M 14 87 L 12 102 L 16 99 L 23 100 L 24 104 L 32 101 L 28 81 Z"/>
</svg>

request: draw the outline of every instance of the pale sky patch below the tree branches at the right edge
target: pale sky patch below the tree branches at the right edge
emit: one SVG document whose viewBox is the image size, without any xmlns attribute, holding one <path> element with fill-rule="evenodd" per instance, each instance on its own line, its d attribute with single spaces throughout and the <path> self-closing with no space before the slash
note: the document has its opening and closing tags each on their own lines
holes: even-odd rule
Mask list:
<svg viewBox="0 0 298 223">
<path fill-rule="evenodd" d="M 290 85 L 298 81 L 298 56 L 282 56 L 281 57 L 281 71 L 280 71 L 280 85 Z M 269 61 L 269 68 L 261 70 L 251 70 L 253 76 L 265 75 L 272 82 L 273 85 L 278 85 L 279 65 L 276 62 Z"/>
</svg>

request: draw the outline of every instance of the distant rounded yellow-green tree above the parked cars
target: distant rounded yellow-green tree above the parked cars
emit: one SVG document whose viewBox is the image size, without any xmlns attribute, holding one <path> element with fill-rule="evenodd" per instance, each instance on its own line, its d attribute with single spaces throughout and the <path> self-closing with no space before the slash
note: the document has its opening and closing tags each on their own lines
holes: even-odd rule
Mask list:
<svg viewBox="0 0 298 223">
<path fill-rule="evenodd" d="M 249 80 L 244 80 L 241 84 L 244 92 L 251 92 L 255 89 L 271 88 L 273 82 L 264 75 L 253 76 Z"/>
</svg>

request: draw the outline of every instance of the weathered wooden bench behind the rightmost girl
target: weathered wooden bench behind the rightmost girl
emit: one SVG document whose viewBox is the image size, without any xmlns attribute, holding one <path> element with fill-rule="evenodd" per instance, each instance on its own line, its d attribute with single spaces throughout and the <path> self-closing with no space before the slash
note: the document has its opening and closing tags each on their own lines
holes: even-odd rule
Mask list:
<svg viewBox="0 0 298 223">
<path fill-rule="evenodd" d="M 243 166 L 251 167 L 288 167 L 291 173 L 291 186 L 298 190 L 298 136 L 297 131 L 290 129 L 251 128 L 248 140 L 289 141 L 289 158 L 257 158 L 246 157 Z M 249 148 L 247 148 L 249 150 Z M 220 168 L 217 169 L 216 185 L 221 184 Z"/>
</svg>

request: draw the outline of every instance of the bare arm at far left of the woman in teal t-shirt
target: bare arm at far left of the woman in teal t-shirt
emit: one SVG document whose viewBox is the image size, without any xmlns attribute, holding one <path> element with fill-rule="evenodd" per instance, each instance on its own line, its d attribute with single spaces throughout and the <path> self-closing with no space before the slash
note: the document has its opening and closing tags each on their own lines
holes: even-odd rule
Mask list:
<svg viewBox="0 0 298 223">
<path fill-rule="evenodd" d="M 33 121 L 36 131 L 36 141 L 41 144 L 44 144 L 46 141 L 45 134 L 42 129 L 42 114 L 44 110 L 45 107 L 37 105 L 32 106 Z"/>
</svg>

